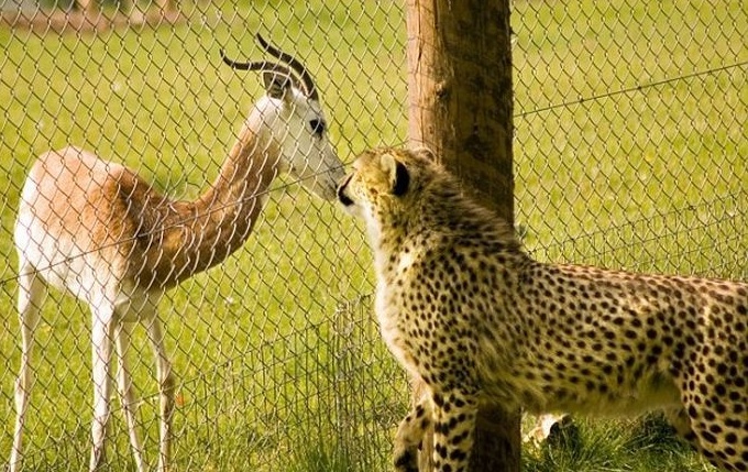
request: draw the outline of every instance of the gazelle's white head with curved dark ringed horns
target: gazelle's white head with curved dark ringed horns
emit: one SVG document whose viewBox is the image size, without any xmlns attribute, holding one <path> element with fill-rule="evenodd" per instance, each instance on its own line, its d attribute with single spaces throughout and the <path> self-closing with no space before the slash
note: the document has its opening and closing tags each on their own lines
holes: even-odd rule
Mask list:
<svg viewBox="0 0 748 472">
<path fill-rule="evenodd" d="M 267 140 L 270 150 L 278 153 L 279 171 L 299 179 L 319 197 L 331 200 L 344 172 L 330 143 L 328 121 L 315 81 L 296 58 L 260 35 L 257 41 L 280 63 L 238 63 L 221 52 L 223 62 L 235 69 L 262 72 L 266 94 L 255 103 L 246 124 L 258 138 Z"/>
</svg>

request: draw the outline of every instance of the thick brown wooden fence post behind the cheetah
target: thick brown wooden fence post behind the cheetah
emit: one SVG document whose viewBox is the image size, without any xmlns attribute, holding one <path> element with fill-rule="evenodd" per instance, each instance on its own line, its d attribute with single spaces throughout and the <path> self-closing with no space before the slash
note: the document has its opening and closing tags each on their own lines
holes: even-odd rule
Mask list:
<svg viewBox="0 0 748 472">
<path fill-rule="evenodd" d="M 514 223 L 508 0 L 408 0 L 411 145 L 426 145 L 481 201 Z M 419 397 L 422 385 L 414 385 Z M 420 470 L 431 471 L 432 440 Z M 479 413 L 471 471 L 519 471 L 519 411 Z"/>
</svg>

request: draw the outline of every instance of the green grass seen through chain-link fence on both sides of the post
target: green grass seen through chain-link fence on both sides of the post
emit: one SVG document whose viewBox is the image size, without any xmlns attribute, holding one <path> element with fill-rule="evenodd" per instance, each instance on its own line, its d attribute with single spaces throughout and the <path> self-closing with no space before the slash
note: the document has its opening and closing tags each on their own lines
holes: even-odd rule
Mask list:
<svg viewBox="0 0 748 472">
<path fill-rule="evenodd" d="M 349 163 L 407 140 L 407 39 L 405 4 L 391 1 L 0 9 L 0 452 L 10 457 L 21 364 L 12 234 L 35 156 L 80 145 L 175 200 L 198 199 L 265 91 L 260 74 L 227 67 L 219 51 L 272 58 L 255 43 L 262 33 L 311 72 Z M 517 226 L 528 249 L 542 260 L 748 278 L 743 2 L 515 1 L 512 24 Z M 298 178 L 280 176 L 264 195 L 246 243 L 158 305 L 176 380 L 173 463 L 386 470 L 407 382 L 371 314 L 362 229 Z M 31 363 L 25 470 L 88 466 L 90 331 L 88 305 L 51 290 Z M 130 359 L 153 465 L 160 396 L 142 328 Z M 117 471 L 135 468 L 121 410 L 113 399 L 106 462 Z"/>
</svg>

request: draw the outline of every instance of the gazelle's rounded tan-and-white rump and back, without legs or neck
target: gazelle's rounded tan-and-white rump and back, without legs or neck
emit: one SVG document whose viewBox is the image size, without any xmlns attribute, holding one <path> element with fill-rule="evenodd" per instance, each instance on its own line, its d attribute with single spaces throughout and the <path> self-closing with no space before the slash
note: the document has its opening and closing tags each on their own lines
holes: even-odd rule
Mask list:
<svg viewBox="0 0 748 472">
<path fill-rule="evenodd" d="M 125 264 L 118 242 L 138 231 L 132 204 L 123 196 L 138 187 L 146 185 L 125 167 L 77 147 L 41 155 L 19 205 L 21 270 L 37 271 L 76 296 L 94 284 L 113 282 L 102 281 L 101 274 L 120 278 Z"/>
</svg>

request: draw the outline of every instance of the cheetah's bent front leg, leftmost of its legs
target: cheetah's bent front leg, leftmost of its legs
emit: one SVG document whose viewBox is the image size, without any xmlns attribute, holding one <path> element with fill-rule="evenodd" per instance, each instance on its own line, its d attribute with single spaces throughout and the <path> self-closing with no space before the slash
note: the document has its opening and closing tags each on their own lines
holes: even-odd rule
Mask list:
<svg viewBox="0 0 748 472">
<path fill-rule="evenodd" d="M 426 430 L 431 426 L 431 398 L 425 395 L 403 419 L 395 435 L 395 470 L 418 472 L 418 449 Z"/>
</svg>

